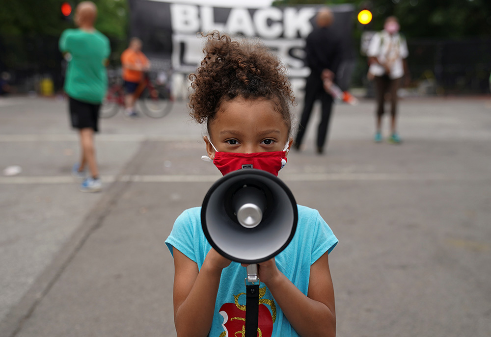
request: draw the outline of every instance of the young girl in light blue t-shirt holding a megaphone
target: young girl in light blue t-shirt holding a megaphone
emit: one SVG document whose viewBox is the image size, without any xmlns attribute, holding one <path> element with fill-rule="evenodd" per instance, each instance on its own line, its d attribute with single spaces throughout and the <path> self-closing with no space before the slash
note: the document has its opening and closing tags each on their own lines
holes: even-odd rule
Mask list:
<svg viewBox="0 0 491 337">
<path fill-rule="evenodd" d="M 198 123 L 206 121 L 208 156 L 223 174 L 229 171 L 222 160 L 227 153 L 250 158 L 271 152 L 285 160 L 293 141 L 294 97 L 284 67 L 263 45 L 218 32 L 207 37 L 205 58 L 190 76 L 189 105 Z M 262 169 L 277 175 L 281 167 Z M 244 336 L 246 268 L 211 247 L 200 213 L 201 207 L 184 211 L 165 241 L 174 257 L 177 335 Z M 298 206 L 298 214 L 290 244 L 258 264 L 260 337 L 335 336 L 327 254 L 338 241 L 317 210 Z"/>
</svg>

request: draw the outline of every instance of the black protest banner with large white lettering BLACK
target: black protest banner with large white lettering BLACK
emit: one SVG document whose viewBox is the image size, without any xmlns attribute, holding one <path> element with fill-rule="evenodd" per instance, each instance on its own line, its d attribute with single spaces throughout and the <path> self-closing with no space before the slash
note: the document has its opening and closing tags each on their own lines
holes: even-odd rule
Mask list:
<svg viewBox="0 0 491 337">
<path fill-rule="evenodd" d="M 248 8 L 236 3 L 233 7 L 214 7 L 161 0 L 129 0 L 129 5 L 131 36 L 143 41 L 143 52 L 156 68 L 171 68 L 183 77 L 194 72 L 203 57 L 204 41 L 198 33 L 218 30 L 234 38 L 261 39 L 286 65 L 296 92 L 309 74 L 303 49 L 319 6 Z M 354 7 L 345 4 L 330 8 L 334 13 L 332 28 L 343 37 L 344 59 L 353 60 Z"/>
</svg>

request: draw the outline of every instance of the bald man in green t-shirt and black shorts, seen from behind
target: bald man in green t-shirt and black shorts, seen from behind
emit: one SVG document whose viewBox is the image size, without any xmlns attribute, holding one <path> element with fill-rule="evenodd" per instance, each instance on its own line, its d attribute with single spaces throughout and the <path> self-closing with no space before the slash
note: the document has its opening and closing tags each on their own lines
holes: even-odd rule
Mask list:
<svg viewBox="0 0 491 337">
<path fill-rule="evenodd" d="M 97 192 L 102 183 L 97 168 L 94 132 L 98 131 L 99 108 L 108 88 L 107 58 L 109 39 L 94 28 L 97 7 L 92 1 L 82 1 L 75 9 L 77 29 L 66 29 L 61 34 L 59 49 L 69 53 L 64 90 L 69 98 L 72 127 L 80 132 L 82 157 L 72 169 L 81 180 L 80 190 Z M 90 175 L 86 177 L 88 166 Z"/>
</svg>

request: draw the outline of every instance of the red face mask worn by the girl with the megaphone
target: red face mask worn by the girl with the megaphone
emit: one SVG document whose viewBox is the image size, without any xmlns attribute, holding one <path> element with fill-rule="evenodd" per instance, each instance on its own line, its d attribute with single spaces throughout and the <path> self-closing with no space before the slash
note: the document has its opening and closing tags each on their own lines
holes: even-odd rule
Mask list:
<svg viewBox="0 0 491 337">
<path fill-rule="evenodd" d="M 287 161 L 288 142 L 283 151 L 256 153 L 220 152 L 217 151 L 211 142 L 210 144 L 215 149 L 215 157 L 212 159 L 208 156 L 202 156 L 201 159 L 213 161 L 222 175 L 242 168 L 255 168 L 269 172 L 277 177 L 279 170 L 285 166 Z"/>
</svg>

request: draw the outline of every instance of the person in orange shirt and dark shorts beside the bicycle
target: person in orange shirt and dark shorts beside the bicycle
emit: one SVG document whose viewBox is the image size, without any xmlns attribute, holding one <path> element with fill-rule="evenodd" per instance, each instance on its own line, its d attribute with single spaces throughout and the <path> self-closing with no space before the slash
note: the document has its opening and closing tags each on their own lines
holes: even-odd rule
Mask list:
<svg viewBox="0 0 491 337">
<path fill-rule="evenodd" d="M 135 111 L 135 91 L 143 79 L 143 72 L 150 69 L 150 62 L 141 52 L 142 42 L 137 37 L 130 40 L 130 45 L 121 54 L 121 65 L 123 68 L 123 80 L 126 92 L 125 105 L 126 114 L 129 117 L 137 117 Z"/>
</svg>

